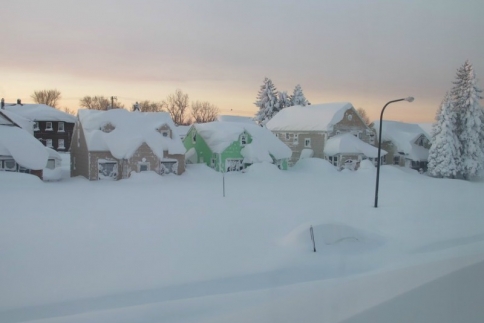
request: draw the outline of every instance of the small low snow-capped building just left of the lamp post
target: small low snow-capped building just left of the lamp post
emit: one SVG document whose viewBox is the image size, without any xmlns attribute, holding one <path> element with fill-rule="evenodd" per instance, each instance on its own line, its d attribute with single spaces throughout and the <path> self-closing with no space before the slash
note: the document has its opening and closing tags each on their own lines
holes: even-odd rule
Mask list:
<svg viewBox="0 0 484 323">
<path fill-rule="evenodd" d="M 381 150 L 380 158 L 383 160 L 387 154 Z M 328 161 L 339 169 L 357 169 L 359 163 L 369 159 L 375 166 L 378 159 L 378 148 L 356 138 L 351 133 L 336 135 L 328 139 L 324 145 L 324 155 Z M 380 164 L 382 163 L 380 160 Z"/>
</svg>

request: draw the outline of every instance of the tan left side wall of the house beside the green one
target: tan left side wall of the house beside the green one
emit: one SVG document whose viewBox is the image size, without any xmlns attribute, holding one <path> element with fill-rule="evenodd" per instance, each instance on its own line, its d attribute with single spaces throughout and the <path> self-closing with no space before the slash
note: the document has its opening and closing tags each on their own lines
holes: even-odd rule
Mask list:
<svg viewBox="0 0 484 323">
<path fill-rule="evenodd" d="M 76 122 L 71 144 L 71 177 L 84 176 L 89 177 L 89 152 L 87 150 L 86 138 L 79 121 Z"/>
</svg>

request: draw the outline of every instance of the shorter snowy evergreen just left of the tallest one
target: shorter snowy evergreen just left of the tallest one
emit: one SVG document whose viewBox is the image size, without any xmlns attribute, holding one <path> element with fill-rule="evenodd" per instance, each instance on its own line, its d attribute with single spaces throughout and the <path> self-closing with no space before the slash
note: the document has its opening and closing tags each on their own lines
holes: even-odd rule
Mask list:
<svg viewBox="0 0 484 323">
<path fill-rule="evenodd" d="M 455 133 L 456 114 L 450 96 L 445 95 L 432 127 L 428 173 L 434 177 L 455 178 L 459 172 L 459 139 Z"/>
</svg>

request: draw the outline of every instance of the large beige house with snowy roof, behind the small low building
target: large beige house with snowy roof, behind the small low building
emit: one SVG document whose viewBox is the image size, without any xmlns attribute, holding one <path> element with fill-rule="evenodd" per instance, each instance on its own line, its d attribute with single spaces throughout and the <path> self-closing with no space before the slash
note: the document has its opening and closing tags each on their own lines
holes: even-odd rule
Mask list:
<svg viewBox="0 0 484 323">
<path fill-rule="evenodd" d="M 356 148 L 335 155 L 325 154 L 328 140 L 340 134 L 350 133 L 362 144 L 375 144 L 374 130 L 365 124 L 349 102 L 288 107 L 278 112 L 266 127 L 291 148 L 291 164 L 306 157 L 324 158 L 339 167 L 347 159 L 357 162 L 355 156 L 362 155 Z"/>
</svg>

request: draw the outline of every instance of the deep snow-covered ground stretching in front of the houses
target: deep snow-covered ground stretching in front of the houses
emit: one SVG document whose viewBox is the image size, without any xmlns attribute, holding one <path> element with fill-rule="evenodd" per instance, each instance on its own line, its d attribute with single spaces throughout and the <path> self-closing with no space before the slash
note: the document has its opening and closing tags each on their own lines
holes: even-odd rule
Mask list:
<svg viewBox="0 0 484 323">
<path fill-rule="evenodd" d="M 483 322 L 484 183 L 306 159 L 0 172 L 0 322 Z M 309 228 L 314 228 L 313 252 Z M 391 320 L 389 320 L 391 318 Z"/>
</svg>

